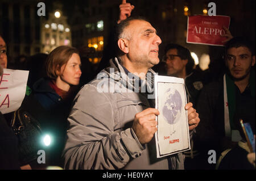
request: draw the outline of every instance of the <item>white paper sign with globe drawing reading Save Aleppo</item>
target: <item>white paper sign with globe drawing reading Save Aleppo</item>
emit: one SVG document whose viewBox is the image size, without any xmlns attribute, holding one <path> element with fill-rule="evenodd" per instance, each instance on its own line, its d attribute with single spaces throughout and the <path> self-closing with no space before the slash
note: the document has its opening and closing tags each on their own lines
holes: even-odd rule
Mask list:
<svg viewBox="0 0 256 181">
<path fill-rule="evenodd" d="M 184 79 L 154 75 L 155 108 L 158 131 L 155 133 L 157 158 L 191 149 L 188 116 L 185 110 L 187 96 Z"/>
</svg>

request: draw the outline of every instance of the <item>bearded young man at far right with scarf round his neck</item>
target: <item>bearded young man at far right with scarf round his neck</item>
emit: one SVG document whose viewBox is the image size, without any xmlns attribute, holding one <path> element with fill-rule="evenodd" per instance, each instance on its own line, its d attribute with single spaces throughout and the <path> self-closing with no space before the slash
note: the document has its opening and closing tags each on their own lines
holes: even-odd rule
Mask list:
<svg viewBox="0 0 256 181">
<path fill-rule="evenodd" d="M 208 151 L 218 155 L 241 140 L 235 123 L 255 121 L 255 50 L 245 37 L 234 37 L 225 45 L 226 73 L 218 82 L 201 91 L 196 110 L 201 123 L 196 129 L 197 142 L 208 163 Z M 204 167 L 205 168 L 205 167 Z"/>
</svg>

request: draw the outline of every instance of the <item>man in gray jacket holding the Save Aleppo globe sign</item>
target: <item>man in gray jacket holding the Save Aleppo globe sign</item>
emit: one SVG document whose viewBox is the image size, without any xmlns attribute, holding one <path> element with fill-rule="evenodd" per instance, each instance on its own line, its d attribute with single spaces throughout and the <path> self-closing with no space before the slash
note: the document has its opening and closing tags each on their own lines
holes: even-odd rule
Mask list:
<svg viewBox="0 0 256 181">
<path fill-rule="evenodd" d="M 118 24 L 118 57 L 77 94 L 69 115 L 65 169 L 184 169 L 182 153 L 156 158 L 152 66 L 159 63 L 162 42 L 149 22 L 128 18 Z M 133 75 L 130 78 L 129 74 Z M 106 80 L 107 91 L 101 83 Z M 139 87 L 134 80 L 139 81 Z M 142 86 L 147 86 L 147 91 Z M 140 89 L 141 88 L 141 89 Z M 111 91 L 114 90 L 114 91 Z M 138 91 L 135 91 L 138 90 Z M 199 124 L 192 103 L 189 130 Z"/>
</svg>

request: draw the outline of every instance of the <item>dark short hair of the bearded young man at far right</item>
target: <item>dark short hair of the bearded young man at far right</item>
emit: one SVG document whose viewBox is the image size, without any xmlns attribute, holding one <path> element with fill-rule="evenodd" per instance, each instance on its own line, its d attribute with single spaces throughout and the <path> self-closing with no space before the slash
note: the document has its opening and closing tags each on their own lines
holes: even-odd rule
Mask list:
<svg viewBox="0 0 256 181">
<path fill-rule="evenodd" d="M 229 40 L 225 45 L 225 54 L 228 52 L 228 49 L 230 48 L 238 48 L 238 47 L 247 47 L 251 55 L 255 55 L 255 46 L 251 40 L 249 40 L 247 37 L 233 37 L 233 39 Z"/>
</svg>

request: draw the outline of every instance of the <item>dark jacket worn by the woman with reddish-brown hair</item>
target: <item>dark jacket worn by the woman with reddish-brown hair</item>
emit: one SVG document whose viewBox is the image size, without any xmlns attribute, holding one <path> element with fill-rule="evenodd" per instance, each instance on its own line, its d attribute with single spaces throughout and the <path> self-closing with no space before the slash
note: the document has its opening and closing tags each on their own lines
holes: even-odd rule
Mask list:
<svg viewBox="0 0 256 181">
<path fill-rule="evenodd" d="M 44 131 L 53 137 L 53 145 L 51 151 L 50 165 L 62 166 L 60 162 L 61 151 L 64 148 L 67 129 L 67 117 L 72 103 L 71 95 L 67 100 L 59 96 L 55 90 L 51 88 L 47 78 L 39 79 L 33 86 L 34 96 L 39 103 L 47 110 L 49 119 L 43 123 Z M 73 93 L 75 94 L 75 93 Z"/>
</svg>

